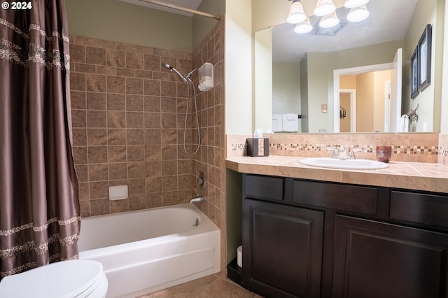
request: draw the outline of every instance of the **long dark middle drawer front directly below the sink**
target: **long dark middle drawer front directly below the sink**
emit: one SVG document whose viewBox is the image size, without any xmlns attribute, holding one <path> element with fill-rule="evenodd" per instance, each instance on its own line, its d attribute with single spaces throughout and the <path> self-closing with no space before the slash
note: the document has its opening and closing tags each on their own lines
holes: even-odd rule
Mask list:
<svg viewBox="0 0 448 298">
<path fill-rule="evenodd" d="M 294 180 L 293 201 L 337 210 L 377 213 L 375 187 Z"/>
</svg>

